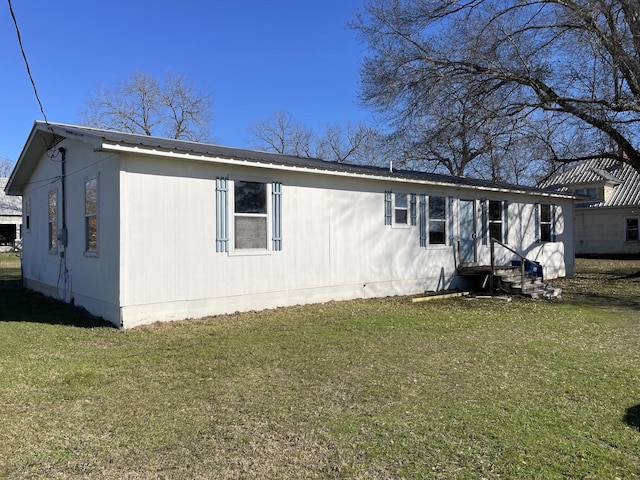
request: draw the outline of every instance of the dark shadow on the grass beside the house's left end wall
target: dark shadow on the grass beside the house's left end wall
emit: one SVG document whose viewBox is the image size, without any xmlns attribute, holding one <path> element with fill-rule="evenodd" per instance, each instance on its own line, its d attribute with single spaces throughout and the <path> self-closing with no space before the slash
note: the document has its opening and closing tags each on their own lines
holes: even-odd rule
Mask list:
<svg viewBox="0 0 640 480">
<path fill-rule="evenodd" d="M 0 322 L 115 328 L 83 308 L 27 290 L 20 280 L 0 280 Z"/>
</svg>

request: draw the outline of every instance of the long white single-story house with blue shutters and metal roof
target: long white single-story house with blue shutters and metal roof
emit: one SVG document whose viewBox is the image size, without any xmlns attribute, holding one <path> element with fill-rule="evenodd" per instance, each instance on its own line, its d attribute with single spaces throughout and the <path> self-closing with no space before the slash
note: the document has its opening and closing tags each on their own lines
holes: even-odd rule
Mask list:
<svg viewBox="0 0 640 480">
<path fill-rule="evenodd" d="M 489 236 L 574 266 L 571 195 L 87 127 L 36 122 L 6 190 L 25 286 L 124 328 L 463 288 Z"/>
</svg>

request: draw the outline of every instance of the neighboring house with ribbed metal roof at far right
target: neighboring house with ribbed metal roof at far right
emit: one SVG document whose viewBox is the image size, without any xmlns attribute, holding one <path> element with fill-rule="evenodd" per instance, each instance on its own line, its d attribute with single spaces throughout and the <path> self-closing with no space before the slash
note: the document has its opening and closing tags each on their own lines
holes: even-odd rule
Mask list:
<svg viewBox="0 0 640 480">
<path fill-rule="evenodd" d="M 575 193 L 576 255 L 640 255 L 640 174 L 612 159 L 580 162 L 542 185 Z"/>
</svg>

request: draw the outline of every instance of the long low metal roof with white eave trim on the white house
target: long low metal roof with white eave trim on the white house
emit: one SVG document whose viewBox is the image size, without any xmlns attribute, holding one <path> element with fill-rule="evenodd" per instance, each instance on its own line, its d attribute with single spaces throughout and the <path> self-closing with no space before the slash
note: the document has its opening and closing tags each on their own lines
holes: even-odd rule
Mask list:
<svg viewBox="0 0 640 480">
<path fill-rule="evenodd" d="M 34 123 L 29 139 L 20 154 L 16 167 L 9 180 L 8 191 L 12 194 L 20 194 L 21 183 L 26 182 L 26 176 L 19 175 L 21 169 L 29 169 L 24 163 L 33 162 L 34 157 L 39 155 L 29 155 L 32 148 L 39 148 L 44 152 L 43 145 L 47 143 L 34 141 L 36 136 L 47 137 L 48 145 L 55 145 L 64 138 L 72 138 L 85 141 L 94 145 L 96 149 L 137 151 L 140 153 L 154 153 L 164 155 L 174 155 L 182 158 L 192 158 L 194 160 L 215 160 L 217 158 L 233 159 L 267 168 L 292 168 L 316 173 L 346 173 L 368 177 L 383 177 L 389 179 L 400 179 L 407 181 L 419 181 L 436 185 L 447 186 L 467 186 L 494 191 L 511 191 L 520 193 L 533 193 L 539 195 L 551 195 L 567 197 L 562 192 L 544 190 L 538 187 L 528 187 L 512 185 L 508 183 L 493 182 L 488 180 L 471 179 L 465 177 L 454 177 L 436 173 L 420 171 L 396 170 L 390 167 L 377 167 L 370 165 L 357 165 L 347 162 L 330 162 L 317 158 L 303 158 L 291 155 L 282 155 L 256 150 L 241 148 L 223 147 L 206 143 L 189 142 L 184 140 L 173 140 L 168 138 L 152 137 L 132 133 L 116 132 L 92 127 L 82 127 L 77 125 L 67 125 L 61 123 L 44 123 L 36 121 Z M 33 167 L 33 165 L 31 166 Z M 21 178 L 17 178 L 21 177 Z"/>
</svg>

